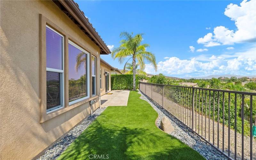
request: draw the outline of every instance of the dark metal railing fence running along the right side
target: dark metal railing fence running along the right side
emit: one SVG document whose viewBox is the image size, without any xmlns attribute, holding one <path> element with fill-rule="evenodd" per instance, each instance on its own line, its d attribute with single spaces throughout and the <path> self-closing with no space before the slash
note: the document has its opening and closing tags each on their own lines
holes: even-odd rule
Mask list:
<svg viewBox="0 0 256 160">
<path fill-rule="evenodd" d="M 256 159 L 256 93 L 144 82 L 140 91 L 227 158 Z"/>
</svg>

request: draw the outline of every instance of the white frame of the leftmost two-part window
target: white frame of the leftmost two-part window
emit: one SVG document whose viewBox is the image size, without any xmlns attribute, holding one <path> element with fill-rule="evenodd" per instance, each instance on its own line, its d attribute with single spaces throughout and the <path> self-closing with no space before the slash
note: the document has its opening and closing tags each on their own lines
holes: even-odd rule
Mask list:
<svg viewBox="0 0 256 160">
<path fill-rule="evenodd" d="M 54 69 L 54 68 L 47 68 L 46 67 L 46 72 L 56 72 L 56 73 L 61 73 L 60 76 L 60 105 L 50 108 L 50 109 L 46 109 L 46 113 L 51 113 L 54 112 L 58 109 L 64 108 L 64 36 L 61 35 L 60 33 L 58 33 L 57 31 L 55 31 L 53 28 L 49 27 L 48 25 L 46 25 L 46 28 L 51 29 L 53 32 L 57 33 L 58 35 L 60 35 L 62 37 L 62 69 Z M 47 44 L 47 43 L 46 43 Z M 47 57 L 46 57 L 47 58 Z"/>
</svg>

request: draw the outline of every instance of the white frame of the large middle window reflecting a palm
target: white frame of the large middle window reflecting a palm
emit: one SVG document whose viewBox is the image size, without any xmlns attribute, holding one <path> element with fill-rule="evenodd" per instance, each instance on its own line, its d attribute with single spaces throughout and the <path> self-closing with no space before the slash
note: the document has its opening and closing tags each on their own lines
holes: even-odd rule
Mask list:
<svg viewBox="0 0 256 160">
<path fill-rule="evenodd" d="M 83 97 L 83 98 L 80 98 L 80 99 L 78 99 L 78 100 L 73 100 L 73 101 L 71 101 L 71 102 L 68 102 L 68 105 L 70 106 L 70 105 L 72 105 L 72 104 L 74 104 L 74 103 L 77 103 L 77 102 L 80 102 L 80 101 L 82 101 L 82 100 L 85 100 L 85 99 L 88 99 L 89 97 L 90 97 L 90 61 L 89 61 L 89 59 L 90 59 L 90 53 L 89 52 L 87 52 L 87 51 L 85 51 L 83 48 L 81 48 L 80 46 L 78 46 L 77 44 L 75 44 L 74 42 L 72 42 L 72 41 L 70 41 L 70 40 L 68 40 L 68 44 L 71 44 L 71 45 L 73 45 L 74 47 L 76 47 L 77 49 L 79 49 L 79 50 L 81 50 L 81 51 L 83 51 L 84 53 L 86 53 L 87 54 L 87 58 L 86 58 L 86 68 L 87 68 L 87 70 L 86 70 L 86 74 L 87 74 L 87 80 L 86 80 L 86 83 L 87 83 L 87 96 L 86 97 Z M 68 53 L 69 54 L 69 53 Z M 68 71 L 69 72 L 69 71 Z M 68 99 L 69 99 L 69 97 L 68 97 Z"/>
</svg>

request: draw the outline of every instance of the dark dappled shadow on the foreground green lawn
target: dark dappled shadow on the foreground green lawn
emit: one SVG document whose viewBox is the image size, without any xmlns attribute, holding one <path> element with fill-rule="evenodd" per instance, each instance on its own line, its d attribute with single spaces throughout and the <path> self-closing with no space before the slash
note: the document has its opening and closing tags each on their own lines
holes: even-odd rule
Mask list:
<svg viewBox="0 0 256 160">
<path fill-rule="evenodd" d="M 103 118 L 96 119 L 59 159 L 89 159 L 89 155 L 108 155 L 109 159 L 130 159 L 126 154 L 127 149 L 134 143 L 135 138 L 138 144 L 146 143 L 140 137 L 147 131 L 141 128 L 119 127 L 112 123 L 114 122 L 111 120 L 106 122 Z"/>
</svg>

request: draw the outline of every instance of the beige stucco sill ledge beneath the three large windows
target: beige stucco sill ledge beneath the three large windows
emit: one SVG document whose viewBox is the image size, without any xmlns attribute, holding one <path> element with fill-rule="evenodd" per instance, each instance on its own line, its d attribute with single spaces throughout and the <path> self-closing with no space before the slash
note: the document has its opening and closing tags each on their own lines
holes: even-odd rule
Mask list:
<svg viewBox="0 0 256 160">
<path fill-rule="evenodd" d="M 90 97 L 90 98 L 87 98 L 85 100 L 81 100 L 79 102 L 76 102 L 72 105 L 69 105 L 69 106 L 66 106 L 66 107 L 60 107 L 60 108 L 56 108 L 52 111 L 49 111 L 49 112 L 44 112 L 44 114 L 40 117 L 40 123 L 43 123 L 45 121 L 48 121 L 56 116 L 59 116 L 61 115 L 62 113 L 65 113 L 65 112 L 68 112 L 69 110 L 73 109 L 73 108 L 76 108 L 78 106 L 81 106 L 87 102 L 89 102 L 90 100 L 94 100 L 94 99 L 97 99 L 99 96 L 98 95 L 95 95 L 93 97 Z M 88 105 L 88 107 L 90 107 L 90 105 Z"/>
</svg>

